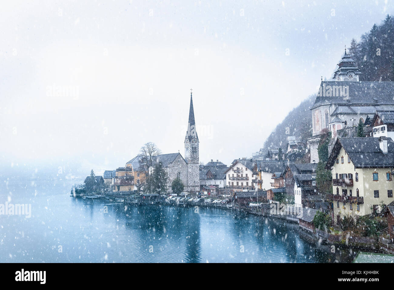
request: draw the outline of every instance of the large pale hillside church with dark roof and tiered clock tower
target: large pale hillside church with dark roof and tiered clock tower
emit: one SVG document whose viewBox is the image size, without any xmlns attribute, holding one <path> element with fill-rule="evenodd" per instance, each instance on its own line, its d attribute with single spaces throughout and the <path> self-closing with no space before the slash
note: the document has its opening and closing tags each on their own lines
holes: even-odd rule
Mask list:
<svg viewBox="0 0 394 290">
<path fill-rule="evenodd" d="M 335 143 L 336 132 L 364 123 L 376 111 L 394 111 L 394 82 L 359 81 L 361 71 L 346 53 L 334 72 L 332 81 L 320 83 L 312 108 L 312 136 L 308 139 L 310 160 L 317 163 L 317 147 L 323 130 L 331 131 Z M 332 148 L 330 146 L 330 148 Z"/>
</svg>

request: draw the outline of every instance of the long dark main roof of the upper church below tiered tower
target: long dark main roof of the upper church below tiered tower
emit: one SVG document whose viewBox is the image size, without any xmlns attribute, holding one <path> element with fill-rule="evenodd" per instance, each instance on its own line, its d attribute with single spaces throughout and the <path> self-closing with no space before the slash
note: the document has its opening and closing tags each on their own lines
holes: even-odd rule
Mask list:
<svg viewBox="0 0 394 290">
<path fill-rule="evenodd" d="M 349 100 L 344 100 L 343 96 L 320 96 L 317 95 L 316 100 L 311 108 L 314 109 L 323 104 L 343 104 L 346 106 L 356 105 L 394 105 L 394 82 L 354 82 L 342 81 L 331 82 L 322 81 L 321 87 L 327 86 L 348 86 Z"/>
</svg>

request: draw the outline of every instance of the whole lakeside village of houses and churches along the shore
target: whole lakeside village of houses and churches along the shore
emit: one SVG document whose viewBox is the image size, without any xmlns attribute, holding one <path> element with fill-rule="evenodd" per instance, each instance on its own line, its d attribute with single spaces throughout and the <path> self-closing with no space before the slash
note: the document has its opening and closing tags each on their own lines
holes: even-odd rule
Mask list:
<svg viewBox="0 0 394 290">
<path fill-rule="evenodd" d="M 288 136 L 287 147 L 229 166 L 200 164 L 190 94 L 184 157 L 146 143 L 124 167 L 92 170 L 72 195 L 281 218 L 323 243 L 394 254 L 394 82 L 359 81 L 360 74 L 345 50 L 333 80 L 321 81 L 311 136 Z"/>
</svg>

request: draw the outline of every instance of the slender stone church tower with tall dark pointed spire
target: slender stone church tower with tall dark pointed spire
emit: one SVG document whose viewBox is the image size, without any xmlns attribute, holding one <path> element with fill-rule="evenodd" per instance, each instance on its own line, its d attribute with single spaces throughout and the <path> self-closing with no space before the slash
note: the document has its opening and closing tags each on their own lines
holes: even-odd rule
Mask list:
<svg viewBox="0 0 394 290">
<path fill-rule="evenodd" d="M 192 93 L 190 93 L 188 131 L 185 138 L 185 160 L 188 162 L 188 184 L 186 184 L 186 190 L 188 191 L 200 190 L 199 143 L 194 121 L 193 98 Z"/>
</svg>

